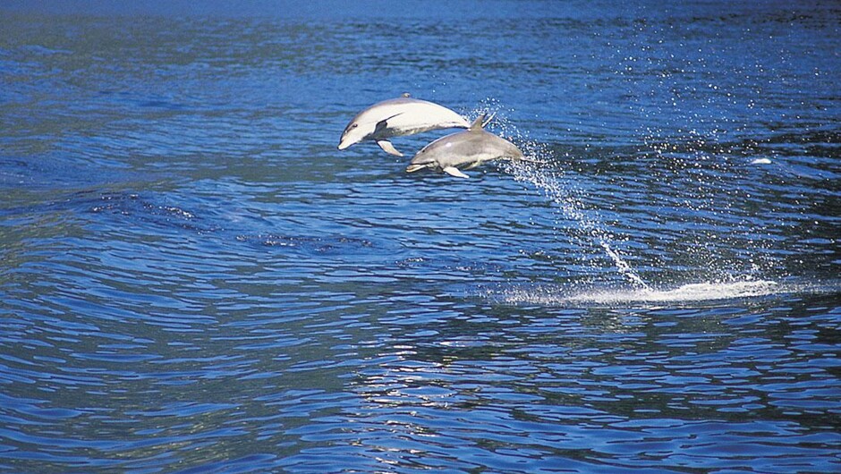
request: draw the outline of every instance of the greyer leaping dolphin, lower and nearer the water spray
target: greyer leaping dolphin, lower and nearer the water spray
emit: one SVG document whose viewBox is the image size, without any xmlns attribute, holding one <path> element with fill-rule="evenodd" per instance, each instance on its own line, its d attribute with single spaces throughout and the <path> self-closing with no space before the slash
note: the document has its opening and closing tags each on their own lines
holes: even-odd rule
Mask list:
<svg viewBox="0 0 841 474">
<path fill-rule="evenodd" d="M 406 171 L 414 173 L 424 168 L 443 171 L 456 178 L 469 178 L 459 168 L 471 169 L 482 163 L 497 159 L 528 160 L 508 140 L 482 130 L 488 122 L 485 114 L 471 124 L 466 131 L 459 131 L 429 143 L 421 148 L 409 162 Z"/>
</svg>

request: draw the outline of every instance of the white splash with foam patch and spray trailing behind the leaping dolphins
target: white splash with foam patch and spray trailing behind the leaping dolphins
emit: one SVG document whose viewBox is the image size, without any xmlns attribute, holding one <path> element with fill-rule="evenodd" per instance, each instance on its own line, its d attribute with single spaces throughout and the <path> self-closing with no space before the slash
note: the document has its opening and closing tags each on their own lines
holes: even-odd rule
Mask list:
<svg viewBox="0 0 841 474">
<path fill-rule="evenodd" d="M 513 293 L 505 291 L 505 300 L 511 302 L 592 302 L 607 303 L 633 302 L 633 301 L 697 301 L 697 300 L 720 300 L 731 298 L 750 298 L 780 292 L 778 284 L 769 278 L 769 243 L 758 241 L 755 233 L 756 223 L 748 216 L 738 216 L 733 212 L 735 197 L 742 197 L 740 192 L 745 191 L 729 190 L 724 184 L 717 184 L 710 179 L 712 174 L 727 173 L 727 176 L 735 174 L 734 179 L 743 180 L 738 175 L 738 170 L 733 171 L 729 161 L 722 162 L 713 160 L 710 150 L 695 149 L 703 147 L 704 140 L 698 139 L 700 145 L 690 143 L 688 156 L 676 153 L 672 155 L 655 149 L 658 162 L 664 163 L 666 171 L 672 178 L 685 182 L 684 190 L 689 190 L 690 196 L 683 199 L 684 209 L 693 211 L 697 216 L 676 216 L 680 222 L 686 223 L 687 219 L 699 220 L 700 224 L 689 225 L 692 233 L 689 233 L 689 240 L 692 245 L 681 247 L 679 250 L 690 260 L 688 264 L 694 268 L 693 276 L 700 278 L 703 283 L 683 284 L 669 279 L 662 284 L 649 284 L 641 278 L 641 275 L 632 265 L 633 256 L 624 254 L 614 235 L 607 230 L 607 225 L 599 218 L 598 210 L 588 204 L 585 191 L 577 184 L 576 180 L 565 175 L 563 169 L 553 165 L 556 162 L 555 152 L 549 148 L 547 143 L 541 143 L 520 131 L 516 125 L 509 122 L 508 114 L 514 109 L 505 109 L 500 106 L 496 99 L 488 98 L 482 101 L 473 114 L 487 113 L 495 114 L 496 118 L 489 124 L 490 131 L 502 135 L 507 140 L 513 141 L 522 149 L 531 161 L 503 161 L 498 162 L 497 167 L 504 173 L 510 174 L 516 182 L 526 182 L 549 199 L 555 206 L 556 225 L 565 225 L 571 230 L 570 238 L 582 248 L 595 249 L 597 255 L 600 253 L 603 258 L 590 260 L 590 267 L 594 270 L 603 270 L 605 258 L 610 262 L 616 272 L 630 284 L 630 288 L 613 288 L 599 291 L 592 291 L 593 280 L 585 278 L 586 289 L 581 284 L 573 288 L 549 288 L 516 290 Z M 678 143 L 682 141 L 678 140 Z M 672 148 L 675 148 L 673 145 Z M 676 148 L 675 148 L 676 149 Z M 689 167 L 693 173 L 684 173 Z M 707 168 L 710 168 L 708 170 Z M 667 180 L 673 182 L 675 180 Z M 721 192 L 718 192 L 720 190 Z M 722 198 L 722 195 L 726 198 Z M 710 228 L 706 219 L 709 216 L 726 216 L 729 223 L 735 227 L 738 235 L 721 235 L 718 229 Z M 562 222 L 563 221 L 563 222 Z M 694 221 L 692 221 L 694 222 Z M 689 224 L 692 224 L 690 222 Z M 569 223 L 573 223 L 570 228 Z M 688 224 L 687 224 L 688 225 Z M 732 233 L 732 232 L 731 232 Z M 713 242 L 710 244 L 710 242 Z M 675 249 L 671 249 L 675 250 Z M 725 251 L 726 250 L 726 251 Z M 765 251 L 763 251 L 765 250 Z M 722 253 L 723 252 L 723 253 Z M 583 258 L 582 259 L 586 259 Z M 654 258 L 654 265 L 667 262 Z M 582 260 L 583 261 L 583 260 Z M 698 264 L 701 262 L 701 264 Z M 746 267 L 747 266 L 747 267 Z M 776 279 L 776 278 L 775 278 Z M 697 280 L 696 280 L 697 282 Z M 551 293 L 547 293 L 551 292 Z"/>
</svg>

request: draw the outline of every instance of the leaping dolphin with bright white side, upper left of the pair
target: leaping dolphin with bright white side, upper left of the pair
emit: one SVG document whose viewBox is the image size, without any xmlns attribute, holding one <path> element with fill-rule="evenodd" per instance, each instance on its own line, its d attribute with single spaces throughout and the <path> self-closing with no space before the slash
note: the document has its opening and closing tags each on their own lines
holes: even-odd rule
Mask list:
<svg viewBox="0 0 841 474">
<path fill-rule="evenodd" d="M 339 140 L 339 149 L 348 148 L 364 140 L 374 140 L 379 148 L 397 157 L 403 157 L 388 139 L 421 133 L 422 131 L 470 127 L 462 115 L 445 106 L 409 97 L 384 100 L 356 114 L 347 124 Z"/>
</svg>

